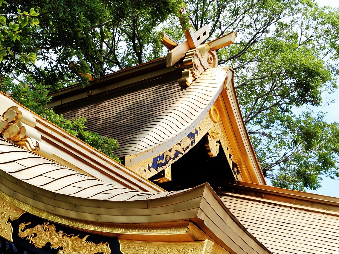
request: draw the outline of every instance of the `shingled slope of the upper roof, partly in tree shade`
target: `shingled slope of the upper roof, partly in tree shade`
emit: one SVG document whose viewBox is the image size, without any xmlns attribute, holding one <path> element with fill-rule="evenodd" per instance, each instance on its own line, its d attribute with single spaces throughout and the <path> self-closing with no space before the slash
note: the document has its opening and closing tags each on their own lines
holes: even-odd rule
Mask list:
<svg viewBox="0 0 339 254">
<path fill-rule="evenodd" d="M 127 87 L 112 97 L 64 108 L 62 114 L 68 119 L 85 116 L 87 130 L 116 139 L 119 148 L 115 155 L 120 158 L 167 141 L 171 142 L 169 147 L 190 133 L 208 113 L 223 89 L 226 74 L 227 68 L 208 69 L 184 89 L 177 79 L 168 77 L 155 85 Z"/>
</svg>

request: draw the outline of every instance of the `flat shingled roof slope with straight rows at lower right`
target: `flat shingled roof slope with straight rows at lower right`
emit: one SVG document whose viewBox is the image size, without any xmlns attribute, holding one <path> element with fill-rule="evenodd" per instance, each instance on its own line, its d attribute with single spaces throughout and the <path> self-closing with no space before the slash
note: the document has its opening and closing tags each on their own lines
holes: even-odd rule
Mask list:
<svg viewBox="0 0 339 254">
<path fill-rule="evenodd" d="M 339 253 L 338 216 L 221 195 L 241 224 L 275 254 Z"/>
</svg>

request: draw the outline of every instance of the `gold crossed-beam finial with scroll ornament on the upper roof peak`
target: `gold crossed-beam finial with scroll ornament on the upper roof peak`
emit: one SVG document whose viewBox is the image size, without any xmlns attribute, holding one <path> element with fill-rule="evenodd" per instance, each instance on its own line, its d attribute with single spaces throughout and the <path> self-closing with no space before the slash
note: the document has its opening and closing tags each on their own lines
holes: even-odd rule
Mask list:
<svg viewBox="0 0 339 254">
<path fill-rule="evenodd" d="M 181 15 L 186 14 L 186 9 L 181 8 Z M 172 40 L 165 33 L 160 33 L 162 44 L 170 51 L 167 53 L 167 67 L 176 64 L 182 57 L 186 56 L 183 63 L 185 70 L 182 72 L 182 78 L 179 79 L 180 87 L 187 87 L 200 76 L 202 72 L 209 68 L 218 67 L 218 56 L 216 50 L 234 43 L 236 32 L 230 32 L 213 41 L 200 45 L 208 38 L 208 25 L 201 27 L 194 32 L 192 24 L 188 21 L 188 29 L 180 20 L 184 29 L 186 40 L 181 44 Z"/>
</svg>

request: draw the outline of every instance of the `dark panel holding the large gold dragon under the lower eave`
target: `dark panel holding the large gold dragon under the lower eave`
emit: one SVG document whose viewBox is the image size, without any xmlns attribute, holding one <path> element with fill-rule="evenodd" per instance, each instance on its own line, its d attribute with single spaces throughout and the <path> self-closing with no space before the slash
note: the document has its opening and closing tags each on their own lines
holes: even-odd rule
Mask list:
<svg viewBox="0 0 339 254">
<path fill-rule="evenodd" d="M 120 254 L 115 237 L 79 231 L 29 213 L 24 213 L 11 224 L 13 243 L 1 238 L 3 253 Z"/>
</svg>

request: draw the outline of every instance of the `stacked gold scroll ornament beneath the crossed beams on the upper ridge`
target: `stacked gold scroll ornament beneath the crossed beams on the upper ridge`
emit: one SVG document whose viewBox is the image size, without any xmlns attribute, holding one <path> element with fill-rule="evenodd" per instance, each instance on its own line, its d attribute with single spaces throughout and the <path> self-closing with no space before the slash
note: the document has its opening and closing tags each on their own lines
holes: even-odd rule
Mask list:
<svg viewBox="0 0 339 254">
<path fill-rule="evenodd" d="M 203 44 L 186 53 L 184 59 L 185 70 L 179 79 L 180 87 L 187 87 L 200 76 L 206 69 L 218 67 L 218 56 L 210 45 Z"/>
</svg>

